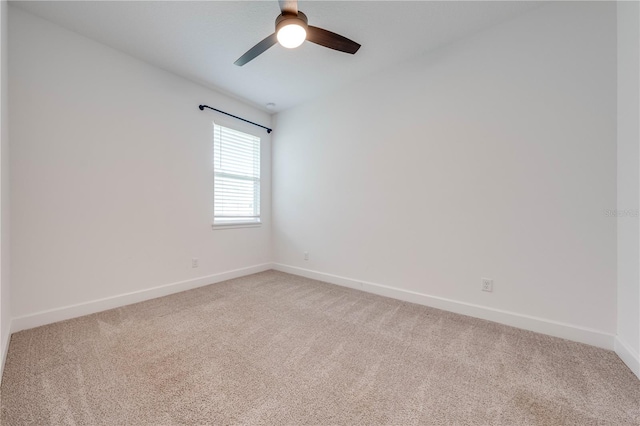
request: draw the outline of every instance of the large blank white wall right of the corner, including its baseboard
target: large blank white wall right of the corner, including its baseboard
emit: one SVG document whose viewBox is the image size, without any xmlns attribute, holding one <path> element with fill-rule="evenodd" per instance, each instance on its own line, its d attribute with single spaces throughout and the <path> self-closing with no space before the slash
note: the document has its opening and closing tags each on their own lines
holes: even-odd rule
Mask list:
<svg viewBox="0 0 640 426">
<path fill-rule="evenodd" d="M 582 2 L 282 112 L 275 261 L 612 348 L 615 113 L 616 7 Z"/>
</svg>

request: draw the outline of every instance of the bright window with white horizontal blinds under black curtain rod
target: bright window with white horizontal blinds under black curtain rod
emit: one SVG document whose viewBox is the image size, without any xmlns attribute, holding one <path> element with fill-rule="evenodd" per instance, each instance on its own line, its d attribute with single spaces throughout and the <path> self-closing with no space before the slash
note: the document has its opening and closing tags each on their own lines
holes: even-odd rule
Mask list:
<svg viewBox="0 0 640 426">
<path fill-rule="evenodd" d="M 213 225 L 260 223 L 260 138 L 213 126 Z"/>
</svg>

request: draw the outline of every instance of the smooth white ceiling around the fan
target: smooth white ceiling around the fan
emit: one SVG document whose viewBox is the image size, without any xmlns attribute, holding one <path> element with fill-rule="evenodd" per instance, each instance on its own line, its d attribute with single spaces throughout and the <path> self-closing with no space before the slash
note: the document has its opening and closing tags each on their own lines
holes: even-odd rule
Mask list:
<svg viewBox="0 0 640 426">
<path fill-rule="evenodd" d="M 423 54 L 539 3 L 305 1 L 309 24 L 360 44 L 355 55 L 306 42 L 233 62 L 274 32 L 276 0 L 13 1 L 11 4 L 160 68 L 281 111 Z"/>
</svg>

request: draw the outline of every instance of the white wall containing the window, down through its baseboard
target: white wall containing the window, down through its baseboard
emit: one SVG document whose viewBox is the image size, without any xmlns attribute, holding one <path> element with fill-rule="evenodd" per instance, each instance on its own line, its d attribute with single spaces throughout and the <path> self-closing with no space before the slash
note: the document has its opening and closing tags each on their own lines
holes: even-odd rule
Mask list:
<svg viewBox="0 0 640 426">
<path fill-rule="evenodd" d="M 198 105 L 269 114 L 13 7 L 9 31 L 15 329 L 268 267 L 270 136 Z M 262 138 L 260 228 L 211 229 L 213 120 Z"/>
</svg>

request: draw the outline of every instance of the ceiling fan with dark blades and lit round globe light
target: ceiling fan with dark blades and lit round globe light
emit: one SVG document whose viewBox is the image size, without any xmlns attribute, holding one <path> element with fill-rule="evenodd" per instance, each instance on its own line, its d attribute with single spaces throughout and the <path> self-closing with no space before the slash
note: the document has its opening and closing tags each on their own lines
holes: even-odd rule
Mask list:
<svg viewBox="0 0 640 426">
<path fill-rule="evenodd" d="M 276 18 L 276 32 L 262 40 L 240 56 L 234 64 L 243 66 L 276 43 L 289 49 L 300 46 L 305 40 L 329 49 L 354 54 L 360 45 L 339 34 L 307 24 L 307 15 L 298 10 L 297 0 L 279 0 L 280 11 Z"/>
</svg>

